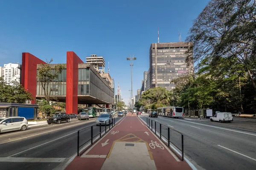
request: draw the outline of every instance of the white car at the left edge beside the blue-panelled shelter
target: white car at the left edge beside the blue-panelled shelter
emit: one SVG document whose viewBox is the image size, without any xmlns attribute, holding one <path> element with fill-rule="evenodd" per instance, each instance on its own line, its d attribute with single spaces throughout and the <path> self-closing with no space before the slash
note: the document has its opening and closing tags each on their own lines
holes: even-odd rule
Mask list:
<svg viewBox="0 0 256 170">
<path fill-rule="evenodd" d="M 12 116 L 0 118 L 0 133 L 15 130 L 26 130 L 29 127 L 25 117 Z"/>
</svg>

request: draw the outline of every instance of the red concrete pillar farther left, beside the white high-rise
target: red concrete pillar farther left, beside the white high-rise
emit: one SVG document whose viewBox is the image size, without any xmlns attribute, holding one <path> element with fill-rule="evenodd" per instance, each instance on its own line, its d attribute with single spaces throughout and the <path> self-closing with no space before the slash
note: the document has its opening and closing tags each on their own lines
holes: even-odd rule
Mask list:
<svg viewBox="0 0 256 170">
<path fill-rule="evenodd" d="M 45 64 L 46 62 L 30 53 L 22 53 L 21 85 L 32 94 L 34 98 L 32 104 L 35 104 L 36 99 L 37 65 L 42 63 Z"/>
</svg>

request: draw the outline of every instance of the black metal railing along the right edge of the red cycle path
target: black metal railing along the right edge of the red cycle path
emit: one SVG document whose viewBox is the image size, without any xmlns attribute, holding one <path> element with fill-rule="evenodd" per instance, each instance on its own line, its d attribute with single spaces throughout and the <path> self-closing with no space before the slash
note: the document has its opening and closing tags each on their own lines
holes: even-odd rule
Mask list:
<svg viewBox="0 0 256 170">
<path fill-rule="evenodd" d="M 166 146 L 168 146 L 171 150 L 173 150 L 172 147 L 170 147 L 170 143 L 172 143 L 181 152 L 181 157 L 180 157 L 180 154 L 178 154 L 177 151 L 173 150 L 175 155 L 177 155 L 182 161 L 184 160 L 184 142 L 183 142 L 184 139 L 183 139 L 182 133 L 149 118 L 147 118 L 147 127 L 151 129 L 151 131 L 153 131 L 159 137 L 159 139 L 161 139 L 161 141 L 163 141 L 163 143 L 166 144 Z M 164 132 L 167 131 L 167 136 L 164 136 L 166 133 L 163 133 L 163 131 Z M 178 136 L 175 136 L 175 134 L 178 134 Z M 163 139 L 166 139 L 167 142 L 165 142 Z M 178 146 L 180 142 L 181 142 L 181 148 Z"/>
</svg>

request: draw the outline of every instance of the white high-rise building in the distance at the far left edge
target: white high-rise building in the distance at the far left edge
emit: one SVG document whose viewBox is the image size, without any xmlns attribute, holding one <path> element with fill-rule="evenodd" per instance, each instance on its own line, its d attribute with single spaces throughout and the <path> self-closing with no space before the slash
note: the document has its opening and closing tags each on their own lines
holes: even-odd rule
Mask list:
<svg viewBox="0 0 256 170">
<path fill-rule="evenodd" d="M 5 64 L 2 69 L 0 69 L 2 72 L 1 75 L 6 82 L 6 84 L 12 85 L 12 81 L 17 81 L 20 83 L 20 69 L 19 64 Z"/>
</svg>

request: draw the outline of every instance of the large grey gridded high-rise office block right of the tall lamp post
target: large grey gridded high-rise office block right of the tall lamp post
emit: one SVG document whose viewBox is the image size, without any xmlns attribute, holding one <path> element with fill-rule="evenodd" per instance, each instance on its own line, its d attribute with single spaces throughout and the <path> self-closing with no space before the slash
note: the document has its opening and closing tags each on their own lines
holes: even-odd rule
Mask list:
<svg viewBox="0 0 256 170">
<path fill-rule="evenodd" d="M 175 88 L 172 79 L 187 73 L 186 50 L 192 42 L 152 43 L 149 49 L 149 86 Z M 155 57 L 157 56 L 157 57 Z"/>
</svg>

